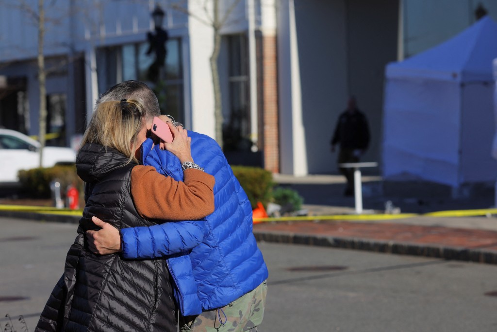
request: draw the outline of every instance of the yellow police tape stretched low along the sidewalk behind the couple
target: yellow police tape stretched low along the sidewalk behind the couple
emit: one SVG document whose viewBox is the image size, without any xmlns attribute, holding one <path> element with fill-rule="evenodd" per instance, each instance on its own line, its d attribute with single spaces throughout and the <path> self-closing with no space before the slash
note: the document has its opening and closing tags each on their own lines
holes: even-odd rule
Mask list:
<svg viewBox="0 0 497 332">
<path fill-rule="evenodd" d="M 54 207 L 37 207 L 24 205 L 2 205 L 0 211 L 11 212 L 31 212 L 40 214 L 62 215 L 62 216 L 81 216 L 83 210 L 57 209 Z M 377 220 L 395 220 L 413 217 L 478 217 L 497 215 L 497 209 L 479 209 L 479 210 L 455 210 L 455 211 L 438 211 L 425 214 L 362 214 L 362 215 L 331 215 L 331 216 L 296 216 L 296 217 L 279 217 L 279 218 L 254 218 L 255 222 L 266 221 L 315 221 L 315 220 L 342 220 L 342 221 L 377 221 Z"/>
</svg>

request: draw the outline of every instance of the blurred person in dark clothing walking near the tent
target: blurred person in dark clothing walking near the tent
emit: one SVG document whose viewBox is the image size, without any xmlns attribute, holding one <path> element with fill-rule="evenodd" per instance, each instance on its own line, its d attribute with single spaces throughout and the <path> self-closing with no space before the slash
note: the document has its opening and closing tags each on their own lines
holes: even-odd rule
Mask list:
<svg viewBox="0 0 497 332">
<path fill-rule="evenodd" d="M 350 97 L 347 109 L 343 111 L 336 122 L 335 131 L 331 138 L 331 152 L 335 145 L 340 144 L 338 164 L 359 162 L 361 155 L 369 146 L 369 126 L 366 116 L 357 109 L 357 102 Z M 354 195 L 354 171 L 352 168 L 339 167 L 340 173 L 346 178 L 345 196 Z"/>
</svg>

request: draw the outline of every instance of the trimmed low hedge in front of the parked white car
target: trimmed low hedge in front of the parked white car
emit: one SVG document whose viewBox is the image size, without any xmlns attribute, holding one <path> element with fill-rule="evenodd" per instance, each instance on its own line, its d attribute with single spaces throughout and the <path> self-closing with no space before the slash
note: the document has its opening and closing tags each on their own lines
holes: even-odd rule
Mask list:
<svg viewBox="0 0 497 332">
<path fill-rule="evenodd" d="M 67 187 L 76 185 L 80 194 L 83 193 L 83 181 L 76 173 L 75 165 L 60 165 L 48 168 L 33 168 L 19 171 L 19 182 L 25 195 L 33 198 L 50 198 L 50 182 L 57 179 L 61 184 L 62 197 L 65 197 Z"/>
</svg>

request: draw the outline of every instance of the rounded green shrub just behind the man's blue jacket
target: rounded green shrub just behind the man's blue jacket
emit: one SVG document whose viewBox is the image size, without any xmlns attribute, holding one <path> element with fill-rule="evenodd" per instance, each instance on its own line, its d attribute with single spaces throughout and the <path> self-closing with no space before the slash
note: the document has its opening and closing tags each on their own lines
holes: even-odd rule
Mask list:
<svg viewBox="0 0 497 332">
<path fill-rule="evenodd" d="M 247 193 L 252 209 L 257 207 L 257 202 L 261 202 L 266 207 L 274 186 L 271 172 L 259 167 L 232 166 L 231 168 Z"/>
</svg>

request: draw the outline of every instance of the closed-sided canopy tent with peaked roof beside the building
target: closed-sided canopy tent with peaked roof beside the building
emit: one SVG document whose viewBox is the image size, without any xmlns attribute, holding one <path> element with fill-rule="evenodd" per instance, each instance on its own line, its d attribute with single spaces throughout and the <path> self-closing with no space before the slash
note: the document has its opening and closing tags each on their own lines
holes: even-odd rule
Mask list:
<svg viewBox="0 0 497 332">
<path fill-rule="evenodd" d="M 446 42 L 386 68 L 382 170 L 459 188 L 495 181 L 493 59 L 484 17 Z"/>
</svg>

